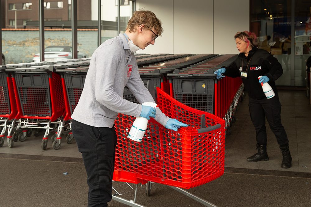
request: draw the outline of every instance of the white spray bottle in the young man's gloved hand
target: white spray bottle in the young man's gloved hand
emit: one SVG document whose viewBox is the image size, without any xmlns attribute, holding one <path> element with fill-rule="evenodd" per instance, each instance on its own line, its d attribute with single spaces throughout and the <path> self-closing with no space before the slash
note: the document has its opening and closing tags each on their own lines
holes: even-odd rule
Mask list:
<svg viewBox="0 0 311 207">
<path fill-rule="evenodd" d="M 151 106 L 153 108 L 156 108 L 158 105 L 153 102 L 144 102 L 142 103 L 143 106 Z M 128 133 L 128 138 L 136 141 L 141 142 L 142 138 L 145 135 L 145 131 L 147 128 L 148 119 L 144 117 L 137 117 L 135 121 L 133 122 L 133 125 L 130 129 L 130 132 Z"/>
</svg>

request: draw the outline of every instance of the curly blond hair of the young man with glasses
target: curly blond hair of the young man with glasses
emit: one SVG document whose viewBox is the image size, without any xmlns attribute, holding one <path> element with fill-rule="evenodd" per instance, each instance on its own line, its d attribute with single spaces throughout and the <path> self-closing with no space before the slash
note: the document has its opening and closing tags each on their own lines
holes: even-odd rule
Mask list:
<svg viewBox="0 0 311 207">
<path fill-rule="evenodd" d="M 130 32 L 135 32 L 135 27 L 139 25 L 145 25 L 145 29 L 152 29 L 152 27 L 154 27 L 154 29 L 158 32 L 158 36 L 163 33 L 162 23 L 152 11 L 134 11 L 133 16 L 128 21 L 126 29 Z"/>
</svg>

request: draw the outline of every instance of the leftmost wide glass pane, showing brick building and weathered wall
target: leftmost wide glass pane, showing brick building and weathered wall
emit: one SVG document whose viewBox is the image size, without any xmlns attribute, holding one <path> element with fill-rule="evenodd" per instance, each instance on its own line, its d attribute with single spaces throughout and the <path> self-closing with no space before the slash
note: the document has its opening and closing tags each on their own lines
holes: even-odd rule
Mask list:
<svg viewBox="0 0 311 207">
<path fill-rule="evenodd" d="M 39 53 L 38 11 L 31 10 L 34 1 L 2 2 L 5 2 L 2 9 L 6 14 L 2 24 L 2 53 L 5 64 L 32 62 L 34 55 Z"/>
</svg>

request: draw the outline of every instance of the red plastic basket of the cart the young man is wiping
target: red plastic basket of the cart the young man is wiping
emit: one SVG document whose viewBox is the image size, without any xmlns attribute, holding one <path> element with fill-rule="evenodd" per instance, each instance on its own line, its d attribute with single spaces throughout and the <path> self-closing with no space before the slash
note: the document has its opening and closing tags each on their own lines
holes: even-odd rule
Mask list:
<svg viewBox="0 0 311 207">
<path fill-rule="evenodd" d="M 163 113 L 188 127 L 175 132 L 151 119 L 142 142 L 135 142 L 127 137 L 134 117 L 119 114 L 114 180 L 188 189 L 220 177 L 224 173 L 225 121 L 181 104 L 160 88 L 157 97 Z"/>
</svg>

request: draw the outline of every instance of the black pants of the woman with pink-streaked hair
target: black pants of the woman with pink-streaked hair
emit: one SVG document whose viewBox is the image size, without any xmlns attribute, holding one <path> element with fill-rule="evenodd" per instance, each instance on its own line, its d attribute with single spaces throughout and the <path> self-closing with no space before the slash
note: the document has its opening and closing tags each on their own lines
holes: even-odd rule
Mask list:
<svg viewBox="0 0 311 207">
<path fill-rule="evenodd" d="M 281 103 L 277 94 L 271 99 L 253 99 L 249 97 L 249 113 L 256 130 L 258 144 L 267 145 L 266 118 L 279 145 L 287 145 L 288 139 L 281 124 Z"/>
</svg>

